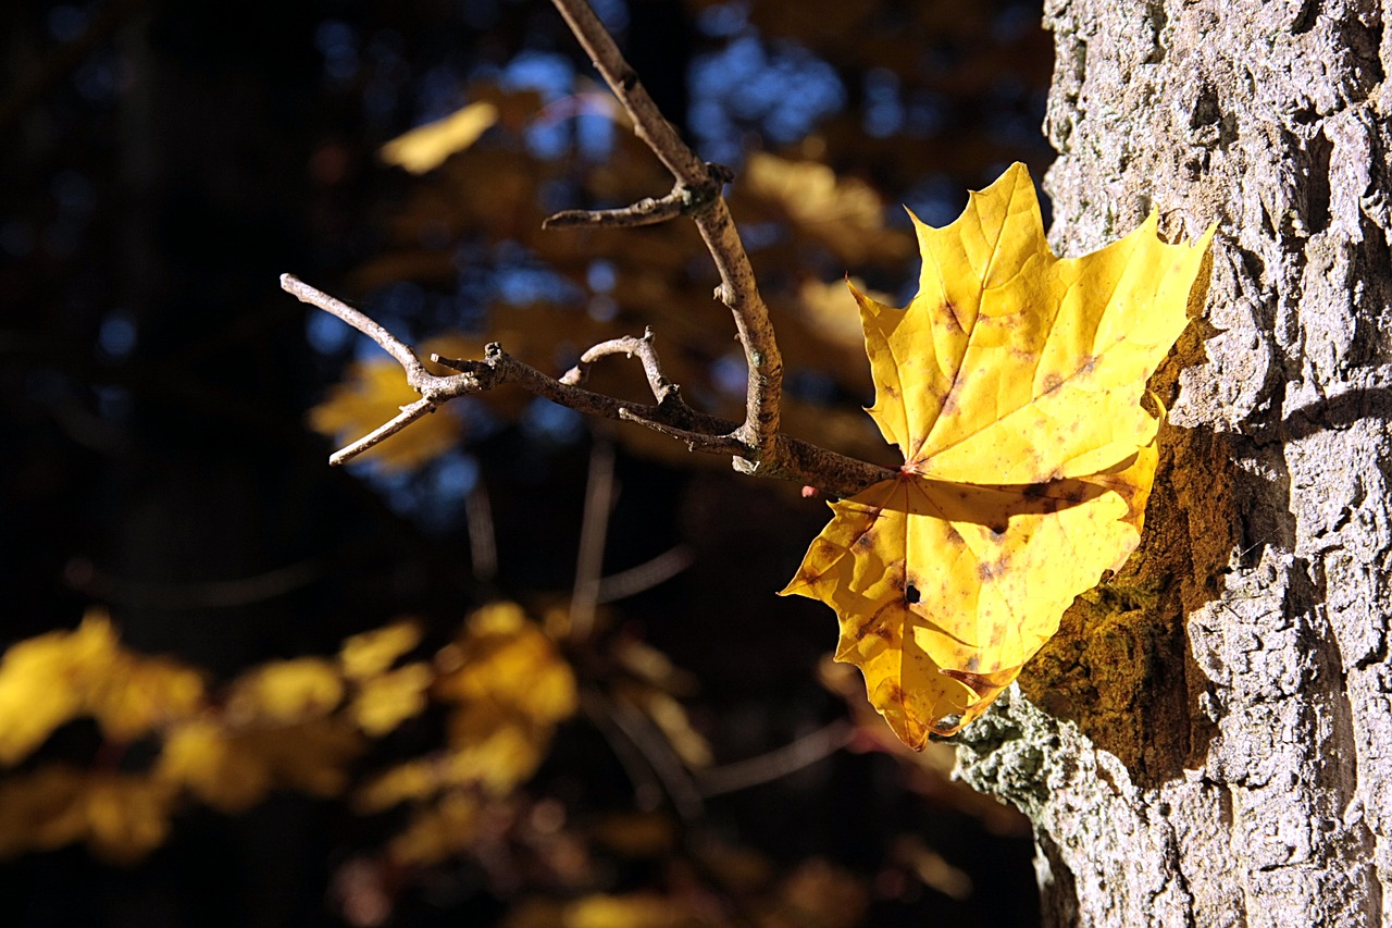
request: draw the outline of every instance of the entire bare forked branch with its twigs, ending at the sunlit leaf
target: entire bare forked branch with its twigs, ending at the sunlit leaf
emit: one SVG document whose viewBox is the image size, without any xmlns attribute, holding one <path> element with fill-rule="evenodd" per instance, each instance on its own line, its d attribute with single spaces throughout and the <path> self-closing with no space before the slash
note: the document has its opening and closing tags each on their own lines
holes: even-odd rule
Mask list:
<svg viewBox="0 0 1392 928">
<path fill-rule="evenodd" d="M 749 369 L 745 421 L 732 422 L 686 405 L 678 386 L 663 373 L 651 329 L 642 337 L 614 339 L 593 346 L 560 379 L 550 378 L 514 358 L 497 343 L 487 346 L 482 361 L 455 361 L 432 355 L 436 362 L 458 371 L 455 375 L 437 376 L 425 368 L 409 346 L 358 309 L 292 274 L 283 274 L 281 287 L 285 291 L 338 316 L 381 346 L 402 366 L 411 386 L 420 393 L 419 400 L 401 407 L 401 414 L 390 422 L 334 451 L 329 463 L 342 464 L 356 457 L 448 400 L 491 390 L 503 383 L 516 383 L 535 396 L 579 412 L 638 422 L 686 443 L 693 451 L 731 456 L 735 470 L 741 472 L 796 481 L 828 495 L 849 496 L 894 477 L 894 471 L 877 464 L 859 461 L 780 433 L 782 355 L 774 340 L 768 308 L 754 283 L 749 255 L 725 203 L 724 187 L 734 174 L 727 167 L 700 160 L 678 137 L 585 0 L 553 0 L 553 3 L 632 117 L 635 134 L 671 171 L 675 185 L 661 198 L 644 198 L 624 209 L 565 210 L 547 219 L 543 226 L 625 227 L 647 226 L 678 216 L 690 217 L 720 272 L 721 283 L 715 288 L 715 298 L 729 307 L 745 351 L 745 364 Z M 615 354 L 639 358 L 653 393 L 653 404 L 625 403 L 583 389 L 590 366 Z"/>
</svg>

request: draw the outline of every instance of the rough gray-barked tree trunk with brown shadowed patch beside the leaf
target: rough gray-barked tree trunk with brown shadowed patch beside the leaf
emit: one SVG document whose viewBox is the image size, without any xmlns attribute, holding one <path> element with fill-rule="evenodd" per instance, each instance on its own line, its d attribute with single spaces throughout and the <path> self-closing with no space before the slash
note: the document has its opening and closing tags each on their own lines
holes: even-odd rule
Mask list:
<svg viewBox="0 0 1392 928">
<path fill-rule="evenodd" d="M 1392 924 L 1389 20 L 1045 3 L 1055 251 L 1218 223 L 1141 549 L 960 736 L 1045 924 Z"/>
</svg>

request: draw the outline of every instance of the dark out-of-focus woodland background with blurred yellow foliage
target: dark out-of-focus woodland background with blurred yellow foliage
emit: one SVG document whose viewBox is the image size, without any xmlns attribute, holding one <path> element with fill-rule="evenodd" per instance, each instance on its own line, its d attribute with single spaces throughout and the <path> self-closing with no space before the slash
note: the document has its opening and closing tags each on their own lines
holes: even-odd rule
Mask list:
<svg viewBox="0 0 1392 928">
<path fill-rule="evenodd" d="M 906 301 L 901 203 L 941 224 L 1047 164 L 1040 4 L 594 6 L 736 173 L 785 429 L 891 461 L 845 279 Z M 739 417 L 689 223 L 540 227 L 671 188 L 550 4 L 0 24 L 7 924 L 1037 920 L 1023 819 L 951 748 L 896 750 L 825 662 L 830 612 L 774 596 L 820 502 L 512 390 L 324 464 L 315 429 L 411 397 L 285 270 L 553 375 L 651 326 L 688 400 Z M 646 393 L 614 358 L 592 386 Z"/>
</svg>

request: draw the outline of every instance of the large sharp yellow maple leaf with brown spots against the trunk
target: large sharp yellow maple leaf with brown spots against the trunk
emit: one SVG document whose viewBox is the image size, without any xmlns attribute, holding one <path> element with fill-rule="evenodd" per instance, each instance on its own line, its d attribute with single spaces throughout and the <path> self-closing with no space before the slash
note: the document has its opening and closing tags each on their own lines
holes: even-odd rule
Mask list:
<svg viewBox="0 0 1392 928">
<path fill-rule="evenodd" d="M 1140 539 L 1160 425 L 1141 397 L 1212 237 L 1168 245 L 1157 222 L 1058 259 L 1013 164 L 951 226 L 915 219 L 906 308 L 852 288 L 869 412 L 905 463 L 831 504 L 782 592 L 837 610 L 837 659 L 909 747 L 980 715 Z"/>
</svg>

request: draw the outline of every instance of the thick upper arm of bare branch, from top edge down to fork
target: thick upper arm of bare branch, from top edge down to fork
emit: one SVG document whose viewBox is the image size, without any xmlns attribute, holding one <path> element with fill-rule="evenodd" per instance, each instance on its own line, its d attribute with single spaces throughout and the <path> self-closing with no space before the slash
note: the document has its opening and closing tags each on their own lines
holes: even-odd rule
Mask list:
<svg viewBox="0 0 1392 928">
<path fill-rule="evenodd" d="M 735 316 L 735 330 L 745 348 L 749 368 L 745 397 L 745 422 L 739 439 L 746 446 L 745 465 L 739 470 L 754 472 L 766 464 L 774 470 L 778 435 L 778 404 L 782 397 L 782 355 L 768 319 L 768 307 L 759 295 L 754 272 L 745 254 L 745 245 L 735 230 L 721 190 L 729 180 L 724 167 L 703 163 L 681 139 L 653 99 L 638 74 L 624 60 L 614 39 L 585 0 L 553 0 L 594 67 L 614 91 L 619 103 L 633 118 L 633 131 L 677 178 L 678 190 L 688 188 L 692 203 L 688 212 L 696 220 L 706 248 L 720 270 L 720 298 Z M 677 192 L 677 191 L 674 191 Z"/>
</svg>

